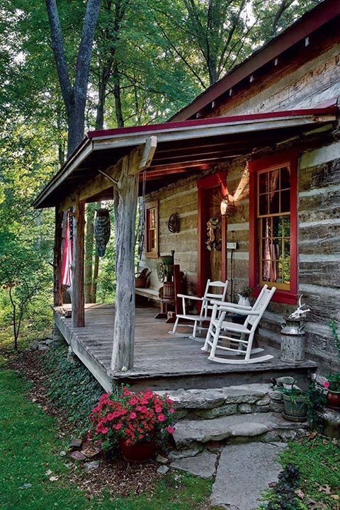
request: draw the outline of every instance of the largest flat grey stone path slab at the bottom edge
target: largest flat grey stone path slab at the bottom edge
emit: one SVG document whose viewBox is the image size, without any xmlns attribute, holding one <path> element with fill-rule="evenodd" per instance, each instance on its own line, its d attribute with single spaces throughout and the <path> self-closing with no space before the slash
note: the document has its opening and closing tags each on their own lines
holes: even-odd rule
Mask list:
<svg viewBox="0 0 340 510">
<path fill-rule="evenodd" d="M 223 448 L 210 501 L 228 510 L 256 510 L 261 493 L 278 480 L 284 443 L 246 443 Z"/>
</svg>

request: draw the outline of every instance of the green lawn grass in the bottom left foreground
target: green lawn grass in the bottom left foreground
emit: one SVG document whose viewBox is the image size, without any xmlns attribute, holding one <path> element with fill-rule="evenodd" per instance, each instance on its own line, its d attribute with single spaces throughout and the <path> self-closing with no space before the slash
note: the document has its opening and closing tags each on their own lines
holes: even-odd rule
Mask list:
<svg viewBox="0 0 340 510">
<path fill-rule="evenodd" d="M 208 497 L 207 480 L 167 475 L 152 498 L 145 493 L 112 500 L 103 494 L 90 502 L 69 481 L 70 467 L 60 456 L 67 445 L 57 438 L 55 419 L 26 399 L 26 390 L 23 378 L 0 371 L 1 510 L 189 510 Z M 50 476 L 58 480 L 50 481 Z"/>
</svg>

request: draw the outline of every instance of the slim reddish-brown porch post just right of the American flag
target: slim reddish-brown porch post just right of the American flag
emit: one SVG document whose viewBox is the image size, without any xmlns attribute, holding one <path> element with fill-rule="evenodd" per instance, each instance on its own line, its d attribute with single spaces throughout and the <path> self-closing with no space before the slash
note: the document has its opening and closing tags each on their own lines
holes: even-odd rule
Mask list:
<svg viewBox="0 0 340 510">
<path fill-rule="evenodd" d="M 72 327 L 85 326 L 84 227 L 85 202 L 76 196 L 73 212 Z"/>
</svg>

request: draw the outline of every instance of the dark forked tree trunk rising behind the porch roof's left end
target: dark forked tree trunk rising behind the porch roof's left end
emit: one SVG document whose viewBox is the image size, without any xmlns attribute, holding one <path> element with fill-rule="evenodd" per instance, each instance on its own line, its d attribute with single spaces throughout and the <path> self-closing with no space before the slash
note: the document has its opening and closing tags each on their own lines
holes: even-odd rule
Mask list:
<svg viewBox="0 0 340 510">
<path fill-rule="evenodd" d="M 101 0 L 89 0 L 84 16 L 83 30 L 79 43 L 74 83 L 69 74 L 69 66 L 64 49 L 62 29 L 57 10 L 56 0 L 46 0 L 47 13 L 50 21 L 52 50 L 55 55 L 60 89 L 67 111 L 68 137 L 67 154 L 71 154 L 84 137 L 85 107 L 91 52 L 94 33 L 98 20 Z"/>
</svg>

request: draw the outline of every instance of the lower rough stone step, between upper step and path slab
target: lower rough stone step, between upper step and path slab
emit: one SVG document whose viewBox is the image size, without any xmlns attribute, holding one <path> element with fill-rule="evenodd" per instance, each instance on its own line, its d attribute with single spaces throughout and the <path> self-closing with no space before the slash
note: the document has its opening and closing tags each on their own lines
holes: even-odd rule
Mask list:
<svg viewBox="0 0 340 510">
<path fill-rule="evenodd" d="M 292 423 L 274 412 L 231 414 L 209 420 L 182 419 L 176 425 L 177 450 L 202 448 L 210 441 L 223 444 L 290 441 L 305 435 L 307 422 Z"/>
</svg>

